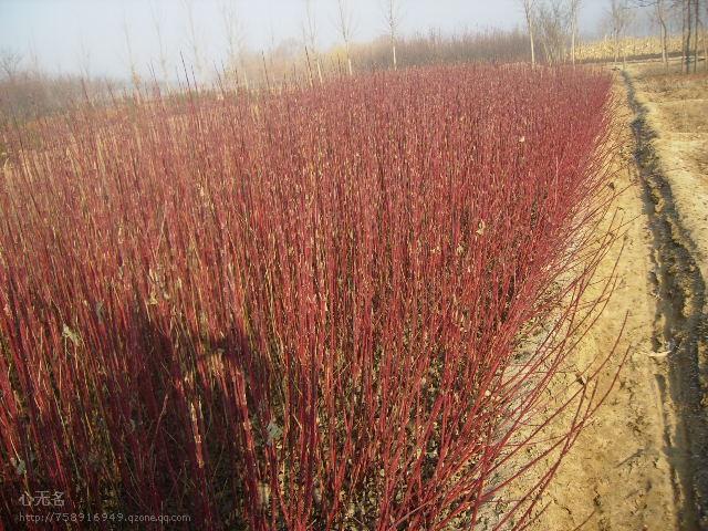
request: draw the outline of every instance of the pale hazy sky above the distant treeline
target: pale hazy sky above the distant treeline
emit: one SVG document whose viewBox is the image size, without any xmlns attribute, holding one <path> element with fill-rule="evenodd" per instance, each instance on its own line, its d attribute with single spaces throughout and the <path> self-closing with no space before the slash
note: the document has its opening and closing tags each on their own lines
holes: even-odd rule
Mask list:
<svg viewBox="0 0 708 531">
<path fill-rule="evenodd" d="M 336 42 L 336 0 L 311 0 L 319 45 Z M 430 28 L 451 33 L 465 29 L 522 27 L 518 0 L 398 0 L 402 31 Z M 222 9 L 230 2 L 238 13 L 246 45 L 268 49 L 272 42 L 301 39 L 303 0 L 191 0 L 200 53 L 219 64 L 226 39 Z M 187 3 L 189 3 L 187 1 Z M 607 0 L 585 0 L 581 28 L 594 31 Z M 367 41 L 384 32 L 382 0 L 350 0 L 354 40 Z M 142 72 L 159 56 L 155 20 L 159 20 L 167 59 L 177 64 L 188 56 L 188 17 L 185 0 L 0 0 L 0 49 L 37 56 L 52 72 L 126 77 L 129 60 L 125 28 L 134 62 Z M 156 66 L 157 67 L 157 66 Z"/>
</svg>

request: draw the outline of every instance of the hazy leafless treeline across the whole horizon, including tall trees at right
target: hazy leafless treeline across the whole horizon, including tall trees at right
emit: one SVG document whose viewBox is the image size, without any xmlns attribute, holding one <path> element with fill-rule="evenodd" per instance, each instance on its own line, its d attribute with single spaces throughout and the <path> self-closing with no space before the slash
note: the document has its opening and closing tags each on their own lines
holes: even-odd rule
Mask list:
<svg viewBox="0 0 708 531">
<path fill-rule="evenodd" d="M 340 44 L 322 50 L 316 45 L 314 22 L 305 23 L 303 39 L 285 39 L 268 51 L 244 46 L 242 35 L 228 29 L 226 61 L 218 69 L 202 56 L 198 42 L 190 41 L 183 64 L 168 64 L 160 55 L 150 63 L 147 76 L 138 73 L 132 60 L 125 81 L 87 75 L 53 75 L 37 66 L 27 67 L 25 59 L 11 51 L 0 51 L 0 115 L 28 117 L 46 115 L 77 101 L 92 102 L 146 94 L 155 86 L 164 92 L 180 92 L 189 83 L 202 87 L 220 86 L 230 91 L 275 90 L 282 86 L 322 83 L 339 75 L 386 69 L 465 62 L 575 63 L 647 59 L 662 56 L 668 65 L 670 55 L 681 55 L 685 71 L 695 71 L 706 52 L 706 0 L 610 0 L 602 24 L 605 38 L 580 42 L 579 0 L 519 0 L 525 28 L 490 29 L 456 35 L 429 31 L 414 35 L 399 32 L 400 14 L 392 10 L 386 31 L 367 43 L 352 40 L 351 18 L 340 15 Z M 308 11 L 308 17 L 312 12 Z M 631 43 L 633 21 L 649 15 L 656 28 L 652 45 Z M 236 17 L 236 15 L 232 15 Z M 235 24 L 229 24 L 229 28 Z M 237 24 L 238 25 L 238 24 Z M 629 44 L 627 44 L 629 42 Z M 211 64 L 211 66 L 206 66 Z M 706 63 L 708 66 L 708 63 Z"/>
</svg>

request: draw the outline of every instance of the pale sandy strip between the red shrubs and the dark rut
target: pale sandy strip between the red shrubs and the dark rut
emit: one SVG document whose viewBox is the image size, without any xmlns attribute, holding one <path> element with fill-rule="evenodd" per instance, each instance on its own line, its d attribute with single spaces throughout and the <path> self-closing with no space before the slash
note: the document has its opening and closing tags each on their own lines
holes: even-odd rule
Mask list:
<svg viewBox="0 0 708 531">
<path fill-rule="evenodd" d="M 631 143 L 631 114 L 626 107 L 623 112 L 621 126 Z M 648 282 L 650 238 L 629 150 L 623 154 L 616 171 L 615 186 L 626 190 L 615 208 L 633 221 L 626 227 L 624 242 L 614 246 L 598 275 L 610 274 L 622 252 L 617 270 L 621 280 L 576 355 L 591 358 L 610 350 L 625 315 L 627 324 L 617 354 L 626 348 L 632 352 L 615 391 L 582 433 L 544 494 L 541 503 L 548 508 L 533 525 L 535 530 L 676 529 L 664 444 L 666 419 L 660 406 L 659 381 L 665 362 L 654 357 L 652 345 L 655 301 Z M 613 374 L 610 367 L 605 379 Z"/>
</svg>

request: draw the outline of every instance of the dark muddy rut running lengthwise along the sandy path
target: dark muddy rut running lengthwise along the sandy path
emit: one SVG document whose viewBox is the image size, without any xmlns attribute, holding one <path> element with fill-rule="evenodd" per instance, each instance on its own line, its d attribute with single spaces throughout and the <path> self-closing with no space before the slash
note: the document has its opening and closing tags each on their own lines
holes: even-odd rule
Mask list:
<svg viewBox="0 0 708 531">
<path fill-rule="evenodd" d="M 647 124 L 647 110 L 633 81 L 623 72 L 635 119 L 635 159 L 644 207 L 653 236 L 652 282 L 658 295 L 654 350 L 667 352 L 668 382 L 657 376 L 663 407 L 675 410 L 676 426 L 666 424 L 666 452 L 673 467 L 679 529 L 708 529 L 708 315 L 706 281 L 696 247 L 676 210 L 674 195 L 659 169 Z"/>
</svg>

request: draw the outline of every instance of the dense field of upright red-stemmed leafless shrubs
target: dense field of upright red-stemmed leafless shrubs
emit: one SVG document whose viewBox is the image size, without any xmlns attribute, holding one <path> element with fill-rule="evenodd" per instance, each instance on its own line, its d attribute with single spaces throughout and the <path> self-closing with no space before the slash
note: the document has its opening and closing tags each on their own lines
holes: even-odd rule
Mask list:
<svg viewBox="0 0 708 531">
<path fill-rule="evenodd" d="M 49 490 L 199 529 L 483 523 L 597 403 L 596 372 L 543 392 L 600 256 L 610 90 L 445 67 L 6 126 L 6 514 Z"/>
</svg>

